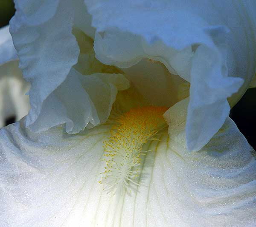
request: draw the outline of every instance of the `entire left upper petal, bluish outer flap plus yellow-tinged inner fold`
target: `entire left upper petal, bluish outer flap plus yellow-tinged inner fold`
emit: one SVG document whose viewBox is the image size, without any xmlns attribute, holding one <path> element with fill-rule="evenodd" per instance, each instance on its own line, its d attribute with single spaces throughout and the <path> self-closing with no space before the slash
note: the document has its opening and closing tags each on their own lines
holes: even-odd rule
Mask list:
<svg viewBox="0 0 256 227">
<path fill-rule="evenodd" d="M 83 1 L 15 3 L 11 31 L 20 68 L 32 85 L 26 127 L 39 132 L 66 123 L 67 132 L 78 133 L 105 122 L 117 91 L 129 82 L 95 59 L 95 29 Z"/>
</svg>

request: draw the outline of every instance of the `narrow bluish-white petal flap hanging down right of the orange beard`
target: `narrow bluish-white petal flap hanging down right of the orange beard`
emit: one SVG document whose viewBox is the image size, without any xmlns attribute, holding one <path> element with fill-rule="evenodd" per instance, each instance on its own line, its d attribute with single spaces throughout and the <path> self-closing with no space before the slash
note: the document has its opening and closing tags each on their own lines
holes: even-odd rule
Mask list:
<svg viewBox="0 0 256 227">
<path fill-rule="evenodd" d="M 200 150 L 221 128 L 230 112 L 227 97 L 238 91 L 242 83 L 240 78 L 222 77 L 218 57 L 208 48 L 198 47 L 191 69 L 186 123 L 189 150 Z"/>
</svg>

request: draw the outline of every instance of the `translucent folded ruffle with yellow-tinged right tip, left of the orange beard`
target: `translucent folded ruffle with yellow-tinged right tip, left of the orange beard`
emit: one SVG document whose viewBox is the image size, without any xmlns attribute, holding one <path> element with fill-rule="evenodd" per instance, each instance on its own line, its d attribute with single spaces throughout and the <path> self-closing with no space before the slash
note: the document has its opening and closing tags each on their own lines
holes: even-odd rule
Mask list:
<svg viewBox="0 0 256 227">
<path fill-rule="evenodd" d="M 108 119 L 117 91 L 128 87 L 129 81 L 122 74 L 82 75 L 72 68 L 64 82 L 44 100 L 38 119 L 29 128 L 45 131 L 66 123 L 68 133 L 78 133 L 99 125 Z"/>
</svg>

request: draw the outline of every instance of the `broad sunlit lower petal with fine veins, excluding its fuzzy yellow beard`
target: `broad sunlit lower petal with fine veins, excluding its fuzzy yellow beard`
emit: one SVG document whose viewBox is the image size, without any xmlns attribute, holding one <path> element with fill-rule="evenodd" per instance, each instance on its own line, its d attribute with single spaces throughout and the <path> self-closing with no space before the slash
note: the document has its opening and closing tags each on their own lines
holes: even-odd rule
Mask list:
<svg viewBox="0 0 256 227">
<path fill-rule="evenodd" d="M 197 153 L 185 145 L 187 102 L 166 114 L 167 131 L 145 145 L 140 186 L 113 196 L 98 183 L 111 125 L 76 135 L 0 131 L 1 223 L 9 227 L 252 227 L 256 160 L 231 119 Z M 255 153 L 254 153 L 255 154 Z"/>
</svg>

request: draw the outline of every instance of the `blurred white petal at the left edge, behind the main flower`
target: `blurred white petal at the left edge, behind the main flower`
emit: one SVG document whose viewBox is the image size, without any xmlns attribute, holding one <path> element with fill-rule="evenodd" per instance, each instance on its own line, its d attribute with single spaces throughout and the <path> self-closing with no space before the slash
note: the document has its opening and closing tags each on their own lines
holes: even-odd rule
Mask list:
<svg viewBox="0 0 256 227">
<path fill-rule="evenodd" d="M 9 26 L 0 29 L 0 128 L 12 121 L 20 120 L 29 111 L 29 90 L 18 68 L 17 53 L 9 33 Z"/>
</svg>

